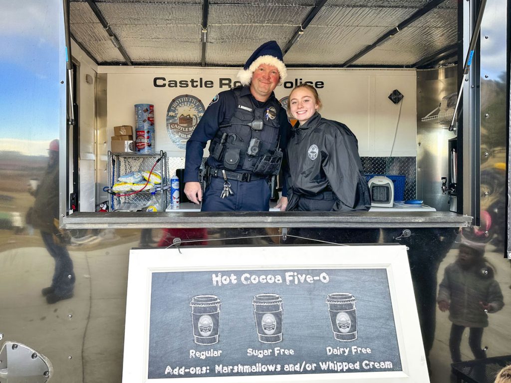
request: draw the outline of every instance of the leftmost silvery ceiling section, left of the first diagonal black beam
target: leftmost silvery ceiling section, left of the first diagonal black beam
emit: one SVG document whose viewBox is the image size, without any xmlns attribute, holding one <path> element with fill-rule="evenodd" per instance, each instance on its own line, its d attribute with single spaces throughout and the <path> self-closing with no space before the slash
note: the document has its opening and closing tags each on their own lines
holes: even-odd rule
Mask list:
<svg viewBox="0 0 511 383">
<path fill-rule="evenodd" d="M 113 46 L 87 3 L 72 2 L 69 7 L 69 29 L 75 39 L 99 63 L 125 62 L 119 50 Z"/>
</svg>

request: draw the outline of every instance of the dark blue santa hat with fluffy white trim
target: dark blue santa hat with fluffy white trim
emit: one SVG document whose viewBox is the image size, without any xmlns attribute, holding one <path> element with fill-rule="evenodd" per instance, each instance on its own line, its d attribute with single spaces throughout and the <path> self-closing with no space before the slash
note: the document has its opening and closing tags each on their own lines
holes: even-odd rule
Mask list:
<svg viewBox="0 0 511 383">
<path fill-rule="evenodd" d="M 282 58 L 282 51 L 275 40 L 267 41 L 252 53 L 243 69 L 238 72 L 238 79 L 243 85 L 249 85 L 252 81 L 252 75 L 261 64 L 273 65 L 278 69 L 281 80 L 278 83 L 282 84 L 287 76 L 286 65 Z"/>
</svg>

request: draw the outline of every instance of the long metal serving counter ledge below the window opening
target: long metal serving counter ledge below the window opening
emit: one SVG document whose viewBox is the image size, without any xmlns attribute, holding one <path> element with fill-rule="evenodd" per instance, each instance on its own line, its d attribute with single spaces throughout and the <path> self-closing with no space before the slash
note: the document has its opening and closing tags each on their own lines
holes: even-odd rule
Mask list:
<svg viewBox="0 0 511 383">
<path fill-rule="evenodd" d="M 76 212 L 62 218 L 65 229 L 466 227 L 472 217 L 448 211 L 427 212 Z"/>
</svg>

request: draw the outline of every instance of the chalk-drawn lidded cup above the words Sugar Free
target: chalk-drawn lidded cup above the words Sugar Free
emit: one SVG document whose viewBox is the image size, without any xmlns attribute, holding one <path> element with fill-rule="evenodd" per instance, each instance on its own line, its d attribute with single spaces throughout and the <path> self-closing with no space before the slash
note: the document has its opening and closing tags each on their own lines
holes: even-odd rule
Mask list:
<svg viewBox="0 0 511 383">
<path fill-rule="evenodd" d="M 255 327 L 259 341 L 277 343 L 282 341 L 282 298 L 277 294 L 254 296 Z"/>
</svg>

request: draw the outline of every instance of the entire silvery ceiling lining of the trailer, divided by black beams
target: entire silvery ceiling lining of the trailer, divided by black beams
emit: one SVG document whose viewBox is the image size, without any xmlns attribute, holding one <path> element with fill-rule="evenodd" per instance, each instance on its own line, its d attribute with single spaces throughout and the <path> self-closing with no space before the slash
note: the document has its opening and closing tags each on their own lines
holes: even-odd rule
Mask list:
<svg viewBox="0 0 511 383">
<path fill-rule="evenodd" d="M 452 44 L 457 35 L 457 1 L 446 0 L 353 65 L 412 65 Z M 203 0 L 96 3 L 110 27 L 108 33 L 117 36 L 133 64 L 201 64 Z M 242 65 L 270 39 L 289 49 L 285 55 L 289 65 L 341 65 L 430 1 L 328 0 L 305 28 L 316 3 L 210 0 L 205 65 Z M 125 62 L 85 1 L 71 1 L 70 11 L 71 32 L 91 56 L 100 64 Z M 296 35 L 304 22 L 304 34 Z"/>
</svg>

